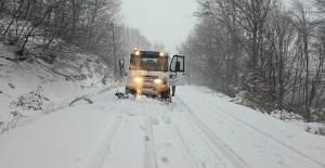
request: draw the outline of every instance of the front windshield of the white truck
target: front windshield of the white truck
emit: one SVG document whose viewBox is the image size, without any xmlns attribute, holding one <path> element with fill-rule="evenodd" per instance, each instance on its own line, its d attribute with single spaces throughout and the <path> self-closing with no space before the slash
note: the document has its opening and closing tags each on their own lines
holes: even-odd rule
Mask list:
<svg viewBox="0 0 325 168">
<path fill-rule="evenodd" d="M 130 69 L 168 72 L 168 56 L 132 54 Z"/>
</svg>

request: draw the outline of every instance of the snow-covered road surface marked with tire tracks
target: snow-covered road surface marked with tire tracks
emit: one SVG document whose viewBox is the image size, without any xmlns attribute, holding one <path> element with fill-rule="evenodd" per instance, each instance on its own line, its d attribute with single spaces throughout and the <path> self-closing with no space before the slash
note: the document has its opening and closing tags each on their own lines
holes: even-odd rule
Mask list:
<svg viewBox="0 0 325 168">
<path fill-rule="evenodd" d="M 172 104 L 114 93 L 0 134 L 0 167 L 325 167 L 325 137 L 203 88 L 178 87 Z"/>
</svg>

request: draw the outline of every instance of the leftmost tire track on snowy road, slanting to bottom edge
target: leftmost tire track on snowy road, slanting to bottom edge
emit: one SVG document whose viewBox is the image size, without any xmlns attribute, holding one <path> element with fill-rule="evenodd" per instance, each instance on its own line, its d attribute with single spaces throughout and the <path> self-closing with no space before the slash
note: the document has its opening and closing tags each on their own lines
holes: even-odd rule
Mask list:
<svg viewBox="0 0 325 168">
<path fill-rule="evenodd" d="M 113 121 L 108 124 L 103 131 L 102 135 L 99 138 L 96 143 L 92 146 L 88 155 L 86 156 L 86 159 L 83 160 L 80 168 L 99 168 L 101 167 L 105 153 L 109 148 L 109 144 L 112 139 L 117 132 L 117 129 L 120 125 L 121 119 L 120 118 L 114 118 Z"/>
</svg>

